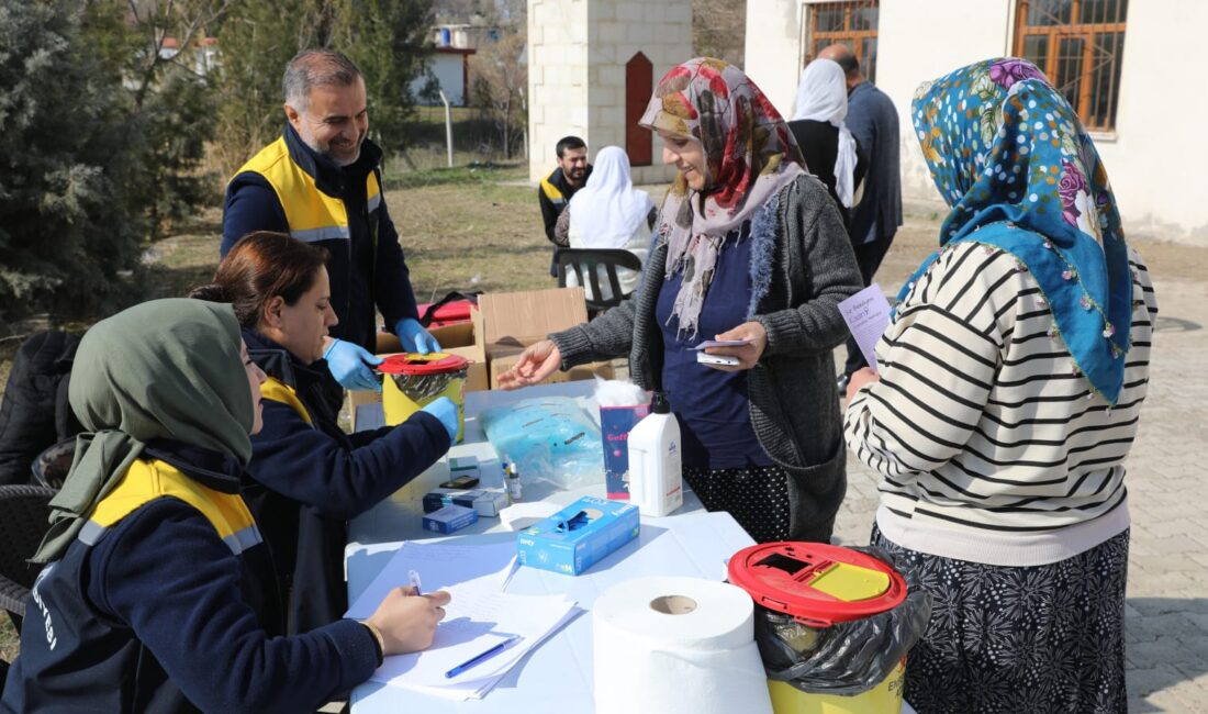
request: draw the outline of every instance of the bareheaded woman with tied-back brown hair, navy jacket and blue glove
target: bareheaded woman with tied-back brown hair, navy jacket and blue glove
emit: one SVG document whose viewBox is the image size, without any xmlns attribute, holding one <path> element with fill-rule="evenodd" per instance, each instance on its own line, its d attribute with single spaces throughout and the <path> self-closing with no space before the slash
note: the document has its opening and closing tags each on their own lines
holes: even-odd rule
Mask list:
<svg viewBox="0 0 1208 714">
<path fill-rule="evenodd" d="M 290 633 L 347 609 L 347 521 L 431 466 L 458 428 L 457 406 L 441 397 L 397 426 L 339 429 L 323 399 L 323 342 L 338 321 L 325 261 L 324 249 L 284 233 L 251 233 L 192 294 L 232 303 L 251 359 L 268 375 L 244 498 L 273 550 Z"/>
</svg>

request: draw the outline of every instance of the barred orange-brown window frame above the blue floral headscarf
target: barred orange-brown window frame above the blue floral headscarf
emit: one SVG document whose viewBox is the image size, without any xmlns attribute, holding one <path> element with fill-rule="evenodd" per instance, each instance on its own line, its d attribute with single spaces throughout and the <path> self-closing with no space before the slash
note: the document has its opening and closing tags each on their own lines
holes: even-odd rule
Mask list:
<svg viewBox="0 0 1208 714">
<path fill-rule="evenodd" d="M 1040 66 L 1040 71 L 1045 72 L 1045 76 L 1047 76 L 1053 86 L 1057 87 L 1058 92 L 1064 93 L 1064 86 L 1057 85 L 1059 79 L 1059 63 L 1064 57 L 1061 53 L 1059 47 L 1063 40 L 1081 40 L 1082 50 L 1079 58 L 1079 75 L 1073 80 L 1073 82 L 1080 85 L 1078 89 L 1078 105 L 1074 106 L 1074 111 L 1076 111 L 1079 118 L 1082 120 L 1082 124 L 1086 127 L 1087 132 L 1096 135 L 1114 137 L 1116 130 L 1116 115 L 1120 111 L 1120 85 L 1123 79 L 1123 52 L 1128 25 L 1127 5 L 1122 12 L 1119 12 L 1121 16 L 1117 18 L 1119 22 L 1084 23 L 1078 21 L 1080 16 L 1079 11 L 1082 7 L 1082 2 L 1086 0 L 1069 0 L 1070 22 L 1051 25 L 1029 25 L 1027 24 L 1028 10 L 1038 1 L 1043 2 L 1044 0 L 1017 0 L 1015 7 L 1015 29 L 1012 33 L 1014 37 L 1011 42 L 1011 53 L 1015 57 L 1027 57 L 1023 50 L 1027 39 L 1045 37 L 1047 41 L 1046 62 L 1045 66 Z M 1116 56 L 1113 59 L 1115 66 L 1110 68 L 1107 72 L 1107 118 L 1102 122 L 1092 121 L 1092 95 L 1096 93 L 1096 89 L 1102 89 L 1094 86 L 1094 75 L 1096 70 L 1103 66 L 1103 63 L 1098 65 L 1094 64 L 1096 40 L 1098 35 L 1111 34 L 1119 34 L 1120 40 L 1119 46 L 1115 50 Z"/>
</svg>

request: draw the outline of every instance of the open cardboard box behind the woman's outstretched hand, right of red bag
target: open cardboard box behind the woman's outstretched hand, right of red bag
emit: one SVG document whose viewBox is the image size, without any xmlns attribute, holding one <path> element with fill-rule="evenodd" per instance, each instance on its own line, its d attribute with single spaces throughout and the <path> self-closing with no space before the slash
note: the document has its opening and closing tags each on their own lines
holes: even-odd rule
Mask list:
<svg viewBox="0 0 1208 714">
<path fill-rule="evenodd" d="M 524 348 L 558 332 L 587 321 L 587 303 L 582 288 L 554 288 L 524 292 L 484 294 L 478 296 L 483 323 L 490 389 L 499 389 L 499 376 L 516 365 Z M 567 372 L 554 372 L 546 383 L 574 382 L 592 377 L 611 379 L 609 361 L 580 365 Z"/>
</svg>

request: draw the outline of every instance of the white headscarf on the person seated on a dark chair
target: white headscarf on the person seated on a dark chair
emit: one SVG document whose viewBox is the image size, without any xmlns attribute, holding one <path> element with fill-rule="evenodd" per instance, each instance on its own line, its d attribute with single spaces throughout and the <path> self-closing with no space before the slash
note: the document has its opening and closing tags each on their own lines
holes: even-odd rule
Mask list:
<svg viewBox="0 0 1208 714">
<path fill-rule="evenodd" d="M 654 208 L 650 195 L 633 187 L 625 150 L 605 146 L 596 155 L 587 185 L 570 198 L 569 210 L 575 226 L 586 226 L 592 248 L 625 248 Z"/>
</svg>

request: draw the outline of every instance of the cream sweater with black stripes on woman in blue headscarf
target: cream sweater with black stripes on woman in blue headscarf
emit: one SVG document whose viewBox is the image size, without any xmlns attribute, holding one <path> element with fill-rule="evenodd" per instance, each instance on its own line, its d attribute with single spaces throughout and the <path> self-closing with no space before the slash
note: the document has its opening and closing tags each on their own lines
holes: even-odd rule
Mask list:
<svg viewBox="0 0 1208 714">
<path fill-rule="evenodd" d="M 1145 266 L 1133 251 L 1129 263 L 1132 346 L 1113 408 L 1076 372 L 1014 256 L 962 243 L 917 281 L 877 344 L 879 382 L 844 419 L 848 446 L 882 476 L 877 522 L 890 540 L 1032 565 L 1127 528 L 1125 458 L 1157 314 Z"/>
</svg>

